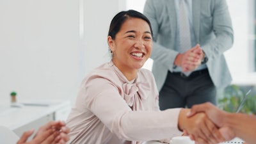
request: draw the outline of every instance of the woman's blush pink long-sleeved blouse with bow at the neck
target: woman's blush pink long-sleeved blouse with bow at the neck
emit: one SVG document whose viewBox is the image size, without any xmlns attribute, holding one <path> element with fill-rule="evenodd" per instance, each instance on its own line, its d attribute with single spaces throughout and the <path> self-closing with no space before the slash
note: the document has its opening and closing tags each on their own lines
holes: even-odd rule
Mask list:
<svg viewBox="0 0 256 144">
<path fill-rule="evenodd" d="M 79 144 L 138 144 L 180 136 L 180 108 L 159 110 L 152 73 L 141 68 L 128 81 L 112 62 L 83 79 L 67 119 L 70 141 Z"/>
</svg>

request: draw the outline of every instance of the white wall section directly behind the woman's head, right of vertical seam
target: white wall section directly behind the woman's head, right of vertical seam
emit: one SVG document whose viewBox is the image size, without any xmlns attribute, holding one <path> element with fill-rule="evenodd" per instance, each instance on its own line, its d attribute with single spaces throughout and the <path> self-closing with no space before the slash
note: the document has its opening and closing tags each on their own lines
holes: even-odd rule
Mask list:
<svg viewBox="0 0 256 144">
<path fill-rule="evenodd" d="M 109 61 L 108 29 L 116 13 L 124 10 L 125 1 L 108 0 L 84 2 L 84 74 Z"/>
</svg>

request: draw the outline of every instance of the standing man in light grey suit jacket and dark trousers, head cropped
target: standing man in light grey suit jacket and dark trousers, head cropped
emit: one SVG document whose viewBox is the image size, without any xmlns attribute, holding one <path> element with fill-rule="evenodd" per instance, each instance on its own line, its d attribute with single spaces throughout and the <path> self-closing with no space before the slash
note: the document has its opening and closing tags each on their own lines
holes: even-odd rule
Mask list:
<svg viewBox="0 0 256 144">
<path fill-rule="evenodd" d="M 179 5 L 189 22 L 189 48 L 180 51 Z M 147 0 L 143 12 L 152 24 L 150 58 L 161 109 L 217 103 L 216 90 L 232 81 L 223 52 L 232 47 L 233 29 L 226 0 Z"/>
</svg>

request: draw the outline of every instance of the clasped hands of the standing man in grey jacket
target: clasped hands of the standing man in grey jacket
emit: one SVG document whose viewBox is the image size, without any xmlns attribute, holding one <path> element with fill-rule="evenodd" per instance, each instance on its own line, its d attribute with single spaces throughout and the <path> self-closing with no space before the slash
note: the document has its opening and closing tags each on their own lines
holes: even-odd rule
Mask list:
<svg viewBox="0 0 256 144">
<path fill-rule="evenodd" d="M 188 51 L 178 54 L 175 58 L 174 64 L 181 67 L 183 72 L 191 72 L 195 70 L 204 58 L 204 52 L 199 44 L 192 47 Z"/>
</svg>

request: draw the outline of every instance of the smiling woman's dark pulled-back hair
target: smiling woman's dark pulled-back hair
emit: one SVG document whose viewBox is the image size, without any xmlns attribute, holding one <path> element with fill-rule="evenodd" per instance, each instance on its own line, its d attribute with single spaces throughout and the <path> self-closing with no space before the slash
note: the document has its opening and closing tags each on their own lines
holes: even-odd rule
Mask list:
<svg viewBox="0 0 256 144">
<path fill-rule="evenodd" d="M 108 36 L 111 36 L 111 38 L 115 40 L 116 33 L 118 33 L 118 31 L 120 30 L 122 24 L 124 24 L 125 20 L 132 17 L 145 20 L 148 23 L 151 35 L 153 36 L 153 31 L 148 18 L 142 13 L 137 12 L 135 10 L 128 10 L 117 13 L 115 17 L 112 19 L 111 24 L 109 26 Z"/>
</svg>

